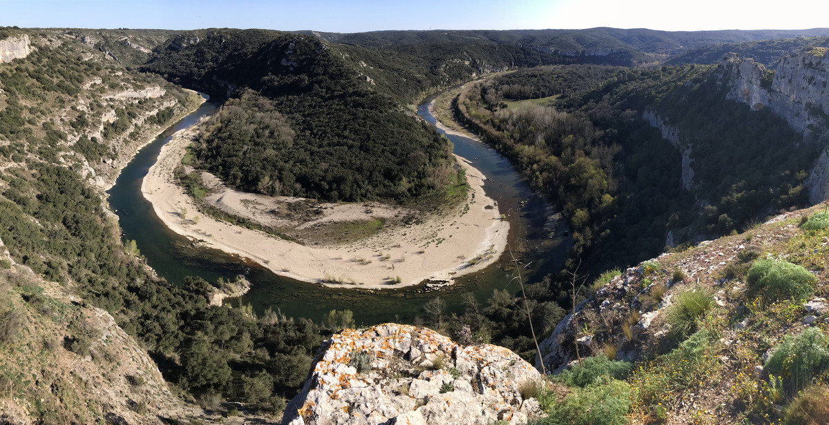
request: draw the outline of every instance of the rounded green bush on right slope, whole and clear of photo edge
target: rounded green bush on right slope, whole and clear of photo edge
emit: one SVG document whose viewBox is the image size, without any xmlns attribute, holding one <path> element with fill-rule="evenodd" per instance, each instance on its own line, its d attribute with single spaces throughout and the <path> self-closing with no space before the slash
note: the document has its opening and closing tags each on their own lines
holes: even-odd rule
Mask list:
<svg viewBox="0 0 829 425">
<path fill-rule="evenodd" d="M 805 301 L 814 292 L 815 276 L 783 259 L 760 259 L 749 269 L 749 289 L 767 301 L 794 298 Z"/>
</svg>

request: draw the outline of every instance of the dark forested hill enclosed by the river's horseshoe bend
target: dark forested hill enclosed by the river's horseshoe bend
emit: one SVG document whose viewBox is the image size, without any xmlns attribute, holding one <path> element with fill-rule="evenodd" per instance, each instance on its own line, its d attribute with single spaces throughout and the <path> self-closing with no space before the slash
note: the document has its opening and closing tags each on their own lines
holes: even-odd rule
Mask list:
<svg viewBox="0 0 829 425">
<path fill-rule="evenodd" d="M 345 56 L 311 36 L 189 31 L 144 70 L 240 98 L 211 118 L 196 161 L 242 190 L 348 201 L 438 192 L 448 143 Z"/>
</svg>

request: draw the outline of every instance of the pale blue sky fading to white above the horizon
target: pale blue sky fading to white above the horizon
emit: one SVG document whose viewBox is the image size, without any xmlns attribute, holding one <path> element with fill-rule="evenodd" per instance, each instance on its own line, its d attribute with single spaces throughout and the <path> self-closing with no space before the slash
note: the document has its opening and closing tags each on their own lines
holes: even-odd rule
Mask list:
<svg viewBox="0 0 829 425">
<path fill-rule="evenodd" d="M 0 0 L 0 26 L 17 27 L 699 31 L 829 27 L 827 17 L 827 0 Z"/>
</svg>

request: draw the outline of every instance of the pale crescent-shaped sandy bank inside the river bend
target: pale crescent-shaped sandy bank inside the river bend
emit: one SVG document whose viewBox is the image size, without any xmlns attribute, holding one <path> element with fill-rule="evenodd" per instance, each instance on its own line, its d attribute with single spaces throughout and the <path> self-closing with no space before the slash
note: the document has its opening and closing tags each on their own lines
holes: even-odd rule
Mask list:
<svg viewBox="0 0 829 425">
<path fill-rule="evenodd" d="M 173 183 L 173 170 L 181 163 L 196 135 L 197 125 L 176 133 L 162 147 L 158 161 L 144 177 L 142 192 L 162 221 L 178 234 L 201 239 L 209 246 L 239 254 L 274 273 L 306 282 L 344 287 L 403 287 L 424 279 L 452 281 L 497 261 L 507 246 L 509 223 L 501 220 L 496 202 L 483 191 L 484 176 L 458 157 L 467 168 L 471 186 L 468 203 L 461 203 L 445 215 L 429 216 L 423 224 L 381 229 L 378 234 L 345 246 L 307 246 L 278 239 L 264 232 L 230 225 L 197 213 L 196 202 Z M 240 192 L 224 189 L 219 196 L 246 210 L 252 202 Z M 232 193 L 231 193 L 232 192 Z M 215 197 L 215 196 L 214 196 Z M 249 199 L 246 200 L 245 199 Z M 467 208 L 468 205 L 468 208 Z M 361 204 L 322 205 L 324 220 L 353 220 L 360 210 L 364 220 L 374 218 Z M 182 218 L 180 211 L 187 209 Z M 339 210 L 337 210 L 339 209 Z M 372 208 L 375 210 L 375 208 Z M 379 210 L 376 214 L 395 213 Z M 197 223 L 192 218 L 200 215 Z M 393 281 L 400 277 L 400 283 Z"/>
</svg>

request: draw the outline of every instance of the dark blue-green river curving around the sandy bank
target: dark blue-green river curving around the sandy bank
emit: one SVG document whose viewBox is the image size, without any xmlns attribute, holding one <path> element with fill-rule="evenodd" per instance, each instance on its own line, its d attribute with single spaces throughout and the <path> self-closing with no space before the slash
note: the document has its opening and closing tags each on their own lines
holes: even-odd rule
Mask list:
<svg viewBox="0 0 829 425">
<path fill-rule="evenodd" d="M 447 302 L 448 312 L 463 312 L 463 294 L 466 292 L 472 292 L 480 302 L 485 302 L 493 289 L 511 292 L 518 289 L 516 283 L 510 283 L 511 272 L 503 270 L 505 258 L 481 272 L 458 278 L 452 287 L 440 291 L 427 292 L 423 284 L 400 289 L 359 290 L 332 289 L 283 278 L 238 256 L 217 249 L 193 247 L 190 239 L 167 229 L 158 219 L 152 205 L 143 198 L 141 182 L 173 133 L 193 125 L 217 107 L 215 102 L 207 101 L 167 128 L 138 152 L 109 190 L 109 205 L 119 216 L 123 238 L 134 239 L 147 263 L 170 283 L 181 283 L 188 275 L 216 281 L 220 277 L 244 274 L 253 286 L 241 299 L 230 300 L 231 304 L 250 303 L 256 312 L 264 312 L 270 307 L 274 311 L 279 309 L 286 316 L 314 320 L 332 309 L 347 309 L 354 312 L 357 325 L 413 321 L 414 316 L 423 316 L 424 303 L 438 296 Z M 434 124 L 426 104 L 419 107 L 418 113 Z M 510 221 L 510 244 L 524 247 L 521 259 L 528 264 L 523 273 L 526 282 L 536 282 L 547 273 L 558 272 L 569 248 L 569 238 L 561 236 L 563 225 L 555 229 L 555 238 L 550 238 L 544 229 L 545 201 L 536 196 L 510 162 L 491 147 L 454 135 L 448 135 L 448 139 L 453 142 L 458 156 L 472 161 L 490 179 L 484 185 L 484 191 L 498 201 L 499 209 Z"/>
</svg>

